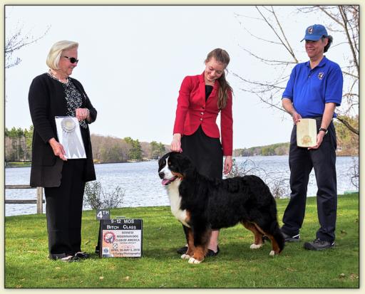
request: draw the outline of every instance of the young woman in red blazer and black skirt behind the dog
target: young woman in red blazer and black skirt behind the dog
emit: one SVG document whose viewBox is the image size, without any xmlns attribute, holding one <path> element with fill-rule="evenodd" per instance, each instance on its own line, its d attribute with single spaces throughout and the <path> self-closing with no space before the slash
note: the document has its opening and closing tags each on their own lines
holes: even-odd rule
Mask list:
<svg viewBox="0 0 365 294">
<path fill-rule="evenodd" d="M 208 53 L 202 74 L 184 78 L 171 142 L 171 150 L 190 157 L 200 174 L 220 179 L 223 156 L 224 173 L 232 169 L 232 88 L 225 80 L 228 63 L 227 51 L 217 48 Z M 216 123 L 218 113 L 220 130 Z M 219 231 L 212 231 L 207 256 L 219 253 L 218 234 Z M 178 249 L 180 254 L 186 251 L 187 246 Z"/>
</svg>

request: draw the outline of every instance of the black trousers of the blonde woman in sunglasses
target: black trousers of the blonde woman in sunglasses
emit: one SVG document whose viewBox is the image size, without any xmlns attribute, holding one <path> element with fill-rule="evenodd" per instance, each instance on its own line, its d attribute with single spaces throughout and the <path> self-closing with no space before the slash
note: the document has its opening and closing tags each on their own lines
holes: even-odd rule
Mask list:
<svg viewBox="0 0 365 294">
<path fill-rule="evenodd" d="M 86 159 L 63 162 L 61 186 L 44 188 L 48 250 L 51 258 L 81 251 L 81 217 L 83 211 L 83 169 Z"/>
</svg>

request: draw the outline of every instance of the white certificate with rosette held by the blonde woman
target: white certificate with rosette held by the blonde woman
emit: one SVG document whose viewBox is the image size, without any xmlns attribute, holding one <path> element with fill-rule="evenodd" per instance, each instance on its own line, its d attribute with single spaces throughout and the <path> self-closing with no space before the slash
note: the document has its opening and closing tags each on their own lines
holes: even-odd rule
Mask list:
<svg viewBox="0 0 365 294">
<path fill-rule="evenodd" d="M 80 124 L 76 117 L 56 116 L 58 140 L 66 152 L 67 159 L 86 158 Z"/>
</svg>

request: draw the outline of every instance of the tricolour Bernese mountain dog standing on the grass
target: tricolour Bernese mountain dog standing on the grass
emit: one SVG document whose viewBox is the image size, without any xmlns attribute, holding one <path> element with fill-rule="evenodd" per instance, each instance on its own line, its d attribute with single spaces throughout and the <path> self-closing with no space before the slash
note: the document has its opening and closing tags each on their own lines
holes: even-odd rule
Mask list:
<svg viewBox="0 0 365 294">
<path fill-rule="evenodd" d="M 178 152 L 165 154 L 158 165 L 171 211 L 185 229 L 188 249 L 181 258 L 201 263 L 212 230 L 238 223 L 254 233 L 255 241 L 250 248 L 260 248 L 266 236 L 272 244 L 270 256 L 283 250 L 276 202 L 262 179 L 254 175 L 210 179 L 199 174 L 190 159 Z"/>
</svg>

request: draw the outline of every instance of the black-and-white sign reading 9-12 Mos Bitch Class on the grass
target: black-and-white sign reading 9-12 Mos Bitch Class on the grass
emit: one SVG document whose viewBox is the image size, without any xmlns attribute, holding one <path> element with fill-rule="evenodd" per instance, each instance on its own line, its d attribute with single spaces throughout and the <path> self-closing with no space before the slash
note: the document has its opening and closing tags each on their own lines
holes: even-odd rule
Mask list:
<svg viewBox="0 0 365 294">
<path fill-rule="evenodd" d="M 101 257 L 141 257 L 142 219 L 101 220 Z"/>
</svg>

